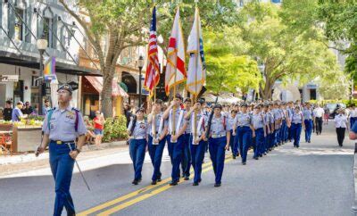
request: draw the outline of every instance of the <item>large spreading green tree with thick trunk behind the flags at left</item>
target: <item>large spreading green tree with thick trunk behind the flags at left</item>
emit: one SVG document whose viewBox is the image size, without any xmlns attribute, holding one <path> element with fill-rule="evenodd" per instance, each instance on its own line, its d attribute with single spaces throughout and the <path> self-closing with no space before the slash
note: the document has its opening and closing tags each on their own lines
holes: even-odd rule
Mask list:
<svg viewBox="0 0 357 216">
<path fill-rule="evenodd" d="M 111 117 L 115 65 L 124 49 L 147 44 L 147 29 L 150 25 L 153 3 L 146 0 L 77 0 L 73 5 L 64 0 L 59 2 L 79 22 L 94 46 L 104 76 L 102 111 L 106 117 Z M 187 37 L 194 20 L 195 4 L 192 0 L 183 0 L 180 3 L 158 0 L 156 4 L 158 35 L 162 35 L 161 46 L 166 54 L 176 7 L 180 5 L 184 35 Z M 219 29 L 222 25 L 237 21 L 236 4 L 232 1 L 200 1 L 198 6 L 201 9 L 203 28 Z M 87 13 L 89 22 L 84 21 L 78 10 Z M 107 41 L 105 49 L 102 43 L 104 40 Z"/>
</svg>

